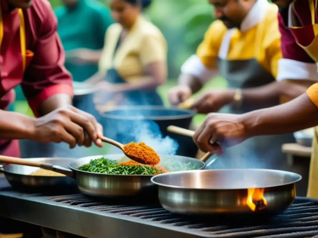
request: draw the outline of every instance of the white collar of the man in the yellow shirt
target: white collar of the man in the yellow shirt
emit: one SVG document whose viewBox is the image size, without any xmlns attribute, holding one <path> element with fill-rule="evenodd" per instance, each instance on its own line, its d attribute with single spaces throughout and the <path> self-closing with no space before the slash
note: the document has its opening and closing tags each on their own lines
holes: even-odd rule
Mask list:
<svg viewBox="0 0 318 238">
<path fill-rule="evenodd" d="M 270 3 L 267 0 L 256 0 L 254 6 L 244 18 L 240 30 L 249 30 L 257 23 L 259 23 L 263 19 L 263 17 L 265 17 L 269 4 Z"/>
</svg>

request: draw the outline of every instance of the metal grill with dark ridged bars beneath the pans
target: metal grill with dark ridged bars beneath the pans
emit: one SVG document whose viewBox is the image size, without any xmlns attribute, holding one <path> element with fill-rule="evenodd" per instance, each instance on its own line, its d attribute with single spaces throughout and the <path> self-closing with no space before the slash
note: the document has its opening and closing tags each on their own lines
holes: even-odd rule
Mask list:
<svg viewBox="0 0 318 238">
<path fill-rule="evenodd" d="M 125 202 L 126 201 L 126 202 Z M 318 235 L 318 200 L 296 198 L 269 221 L 189 218 L 159 204 L 109 201 L 82 194 L 31 194 L 0 190 L 0 215 L 85 237 L 312 237 Z"/>
</svg>

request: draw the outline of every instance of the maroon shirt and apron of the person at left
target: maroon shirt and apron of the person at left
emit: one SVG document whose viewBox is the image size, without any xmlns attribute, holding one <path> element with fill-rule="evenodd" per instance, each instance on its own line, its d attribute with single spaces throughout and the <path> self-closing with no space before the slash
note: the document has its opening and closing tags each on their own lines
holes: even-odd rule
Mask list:
<svg viewBox="0 0 318 238">
<path fill-rule="evenodd" d="M 7 108 L 13 102 L 14 98 L 8 92 L 18 84 L 21 84 L 35 115 L 41 102 L 50 96 L 58 93 L 73 96 L 72 78 L 64 67 L 65 53 L 56 33 L 57 19 L 50 3 L 47 0 L 33 0 L 32 6 L 23 11 L 26 50 L 34 53 L 26 57 L 24 73 L 18 11 L 9 11 L 5 0 L 0 0 L 0 3 L 4 34 L 0 51 L 0 109 Z M 2 145 L 5 143 L 7 141 L 0 141 Z M 11 144 L 8 149 L 5 153 L 12 154 L 18 146 Z M 0 151 L 0 154 L 3 153 Z"/>
</svg>

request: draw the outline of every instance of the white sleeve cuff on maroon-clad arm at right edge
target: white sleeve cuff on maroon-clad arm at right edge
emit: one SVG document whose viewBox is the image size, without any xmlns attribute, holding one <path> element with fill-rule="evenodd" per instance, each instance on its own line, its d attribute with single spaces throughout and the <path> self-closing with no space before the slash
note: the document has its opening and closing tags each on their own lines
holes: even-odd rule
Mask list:
<svg viewBox="0 0 318 238">
<path fill-rule="evenodd" d="M 305 79 L 317 82 L 317 64 L 282 58 L 278 61 L 277 81 Z"/>
</svg>

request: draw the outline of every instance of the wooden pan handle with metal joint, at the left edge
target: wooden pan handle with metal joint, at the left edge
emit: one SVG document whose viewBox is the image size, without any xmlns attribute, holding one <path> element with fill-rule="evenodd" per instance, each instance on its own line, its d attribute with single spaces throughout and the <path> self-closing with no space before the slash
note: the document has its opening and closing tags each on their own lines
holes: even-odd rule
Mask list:
<svg viewBox="0 0 318 238">
<path fill-rule="evenodd" d="M 42 163 L 36 160 L 29 160 L 29 159 L 21 159 L 15 158 L 10 156 L 0 155 L 0 163 L 7 163 L 7 164 L 18 164 L 18 165 L 25 165 L 25 166 L 32 166 L 38 167 L 41 169 L 51 170 L 60 174 L 64 174 L 66 176 L 74 178 L 75 174 L 71 169 L 64 168 L 58 165 L 53 165 L 50 163 Z"/>
</svg>

